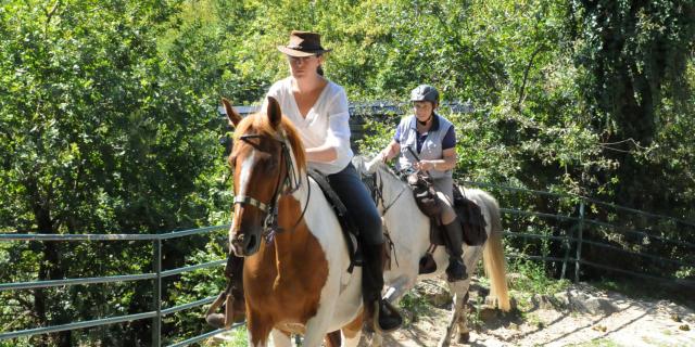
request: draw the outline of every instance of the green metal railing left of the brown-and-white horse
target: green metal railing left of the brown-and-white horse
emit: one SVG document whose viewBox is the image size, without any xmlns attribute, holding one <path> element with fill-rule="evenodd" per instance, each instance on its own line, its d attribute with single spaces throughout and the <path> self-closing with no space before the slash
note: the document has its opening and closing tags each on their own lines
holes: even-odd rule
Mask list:
<svg viewBox="0 0 695 347">
<path fill-rule="evenodd" d="M 103 319 L 96 319 L 96 320 L 89 320 L 89 321 L 73 322 L 70 324 L 27 329 L 27 330 L 13 331 L 13 332 L 2 332 L 0 333 L 0 340 L 151 319 L 152 320 L 152 346 L 160 347 L 162 346 L 161 329 L 162 329 L 163 317 L 175 313 L 175 312 L 179 312 L 182 310 L 201 307 L 203 305 L 211 304 L 215 299 L 215 297 L 212 296 L 212 297 L 202 298 L 200 300 L 195 300 L 192 303 L 163 309 L 162 308 L 162 279 L 185 273 L 185 272 L 199 270 L 199 269 L 220 267 L 227 262 L 226 259 L 219 259 L 219 260 L 199 264 L 194 266 L 188 266 L 188 267 L 170 269 L 170 270 L 162 270 L 162 242 L 165 240 L 213 233 L 215 231 L 227 230 L 227 229 L 229 229 L 229 224 L 207 227 L 207 228 L 186 230 L 186 231 L 176 231 L 176 232 L 169 232 L 169 233 L 163 233 L 163 234 L 13 234 L 13 233 L 0 234 L 0 242 L 9 242 L 9 241 L 20 241 L 20 242 L 21 241 L 26 241 L 26 242 L 28 241 L 43 241 L 43 242 L 149 241 L 149 242 L 152 242 L 153 244 L 153 254 L 152 254 L 153 271 L 150 273 L 112 275 L 112 277 L 102 277 L 102 278 L 33 281 L 33 282 L 20 282 L 20 283 L 1 283 L 0 292 L 17 291 L 17 290 L 36 290 L 36 288 L 47 288 L 47 287 L 78 285 L 78 284 L 102 284 L 102 283 L 131 282 L 131 281 L 143 281 L 143 280 L 154 281 L 154 290 L 153 290 L 154 303 L 151 311 L 139 312 L 134 314 L 125 314 L 125 316 L 118 316 L 118 317 L 110 317 L 110 318 L 103 318 Z M 235 324 L 230 329 L 235 329 L 239 325 L 241 324 Z M 225 329 L 214 330 L 214 331 L 204 333 L 202 335 L 198 335 L 185 340 L 180 340 L 176 344 L 169 345 L 169 347 L 188 346 L 188 345 L 198 343 L 200 340 L 203 340 L 205 338 L 208 338 L 211 336 L 214 336 L 216 334 L 219 334 L 224 331 L 226 330 Z"/>
</svg>

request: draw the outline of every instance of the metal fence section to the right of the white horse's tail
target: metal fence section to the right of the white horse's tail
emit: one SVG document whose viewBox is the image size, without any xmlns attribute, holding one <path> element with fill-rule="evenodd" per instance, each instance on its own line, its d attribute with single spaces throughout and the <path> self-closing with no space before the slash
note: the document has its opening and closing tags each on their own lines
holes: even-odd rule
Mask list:
<svg viewBox="0 0 695 347">
<path fill-rule="evenodd" d="M 490 190 L 501 206 L 518 206 L 502 208 L 506 243 L 518 250 L 510 258 L 556 264 L 560 278 L 576 282 L 590 273 L 695 287 L 694 222 L 584 196 L 463 183 Z"/>
</svg>

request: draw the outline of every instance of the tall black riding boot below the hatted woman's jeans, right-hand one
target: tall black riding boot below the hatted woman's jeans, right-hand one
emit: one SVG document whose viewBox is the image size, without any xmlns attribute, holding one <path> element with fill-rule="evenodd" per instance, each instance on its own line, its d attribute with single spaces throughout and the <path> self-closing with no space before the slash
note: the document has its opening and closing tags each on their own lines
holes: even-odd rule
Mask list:
<svg viewBox="0 0 695 347">
<path fill-rule="evenodd" d="M 389 301 L 381 298 L 383 287 L 383 245 L 363 247 L 364 265 L 362 267 L 362 291 L 367 323 L 378 332 L 390 333 L 403 324 L 403 318 Z"/>
</svg>

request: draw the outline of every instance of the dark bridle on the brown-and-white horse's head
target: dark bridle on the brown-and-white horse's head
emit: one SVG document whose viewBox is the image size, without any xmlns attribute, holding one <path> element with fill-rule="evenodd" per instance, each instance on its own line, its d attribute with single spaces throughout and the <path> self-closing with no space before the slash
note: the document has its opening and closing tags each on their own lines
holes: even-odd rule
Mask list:
<svg viewBox="0 0 695 347">
<path fill-rule="evenodd" d="M 281 175 L 278 176 L 278 182 L 275 185 L 275 191 L 273 192 L 270 202 L 266 204 L 249 195 L 236 195 L 233 202 L 235 205 L 239 204 L 241 206 L 253 206 L 265 215 L 263 229 L 265 230 L 264 235 L 268 237 L 268 235 L 273 235 L 273 233 L 281 232 L 281 229 L 278 226 L 278 202 L 280 201 L 280 196 L 296 192 L 300 189 L 302 182 L 294 166 L 292 165 L 292 160 L 290 159 L 290 146 L 287 144 L 287 139 L 283 136 L 270 138 L 262 134 L 242 134 L 239 137 L 239 139 L 247 142 L 250 139 L 271 139 L 280 143 L 280 159 L 283 159 L 285 162 L 285 170 L 287 174 L 285 175 L 283 181 Z M 286 188 L 283 192 L 280 192 L 281 188 Z M 292 229 L 299 226 L 299 223 L 302 221 L 302 218 L 304 217 L 304 214 L 306 213 L 306 209 L 308 207 L 308 198 L 312 193 L 311 185 L 308 185 L 308 189 L 309 191 L 306 196 L 306 204 L 304 205 L 302 214 L 300 215 Z"/>
</svg>

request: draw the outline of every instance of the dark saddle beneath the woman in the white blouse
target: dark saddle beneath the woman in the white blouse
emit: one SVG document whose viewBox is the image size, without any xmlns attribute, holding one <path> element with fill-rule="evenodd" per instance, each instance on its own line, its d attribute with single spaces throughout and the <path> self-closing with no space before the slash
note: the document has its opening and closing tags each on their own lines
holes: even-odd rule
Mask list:
<svg viewBox="0 0 695 347">
<path fill-rule="evenodd" d="M 328 204 L 333 213 L 336 213 L 338 222 L 340 222 L 340 229 L 343 232 L 343 239 L 345 239 L 345 245 L 348 245 L 348 254 L 350 255 L 348 272 L 352 273 L 355 266 L 362 266 L 362 253 L 359 252 L 357 243 L 359 230 L 355 227 L 355 222 L 350 218 L 350 215 L 348 215 L 345 204 L 343 204 L 338 194 L 336 194 L 336 191 L 330 188 L 328 179 L 317 170 L 308 170 L 308 176 L 318 183 L 324 195 L 326 195 L 326 200 L 328 200 Z"/>
</svg>

